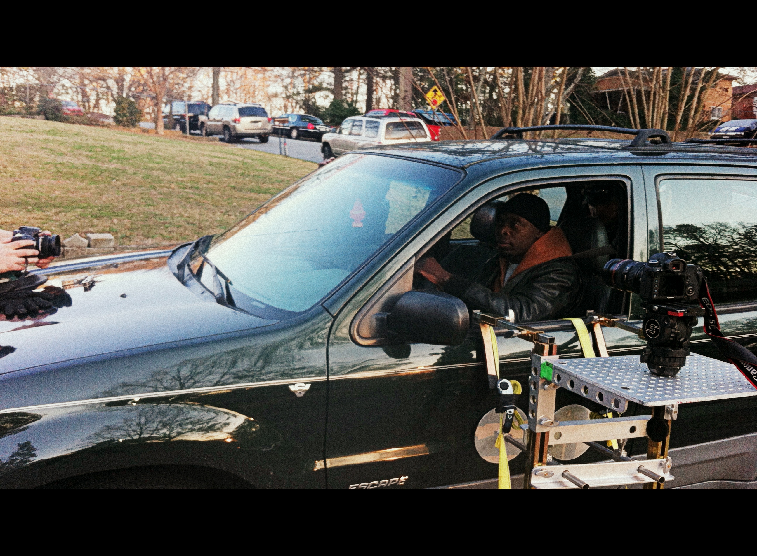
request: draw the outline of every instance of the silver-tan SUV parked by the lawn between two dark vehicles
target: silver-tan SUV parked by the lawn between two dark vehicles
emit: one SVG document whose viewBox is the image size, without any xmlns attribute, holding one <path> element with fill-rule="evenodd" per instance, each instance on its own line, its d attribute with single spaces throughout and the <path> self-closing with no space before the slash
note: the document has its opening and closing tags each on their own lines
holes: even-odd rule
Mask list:
<svg viewBox="0 0 757 556">
<path fill-rule="evenodd" d="M 223 134 L 226 143 L 241 137 L 257 137 L 260 143 L 267 143 L 272 128 L 266 109 L 258 103 L 220 103 L 200 122 L 205 137 Z"/>
</svg>

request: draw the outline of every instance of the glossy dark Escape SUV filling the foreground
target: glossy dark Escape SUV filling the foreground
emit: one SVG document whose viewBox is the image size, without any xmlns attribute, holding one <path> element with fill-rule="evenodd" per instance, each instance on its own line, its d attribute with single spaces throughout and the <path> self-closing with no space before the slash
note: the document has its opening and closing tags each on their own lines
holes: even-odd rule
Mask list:
<svg viewBox="0 0 757 556">
<path fill-rule="evenodd" d="M 496 253 L 491 221 L 471 218 L 522 191 L 585 252 L 608 236 L 582 190 L 614 184 L 617 256 L 675 250 L 699 264 L 724 335 L 755 349 L 754 150 L 671 144 L 664 132 L 653 144 L 510 131 L 356 150 L 217 236 L 45 270 L 58 308 L 0 320 L 0 486 L 496 486 L 481 332 L 440 308 L 456 298 L 419 291 L 413 270 L 432 253 L 475 273 Z M 580 261 L 583 309 L 640 324 L 637 295 L 598 279 L 604 261 Z M 581 357 L 569 321 L 529 326 L 556 338 L 561 357 Z M 509 332 L 497 330 L 500 370 L 525 385 L 534 344 Z M 645 346 L 621 328 L 605 338 L 611 356 Z M 720 357 L 701 327 L 691 344 Z M 645 412 L 631 403 L 627 415 Z M 646 439 L 626 449 L 643 459 Z M 508 451 L 521 473 L 524 456 Z M 755 485 L 757 397 L 682 405 L 670 454 L 666 487 Z"/>
</svg>

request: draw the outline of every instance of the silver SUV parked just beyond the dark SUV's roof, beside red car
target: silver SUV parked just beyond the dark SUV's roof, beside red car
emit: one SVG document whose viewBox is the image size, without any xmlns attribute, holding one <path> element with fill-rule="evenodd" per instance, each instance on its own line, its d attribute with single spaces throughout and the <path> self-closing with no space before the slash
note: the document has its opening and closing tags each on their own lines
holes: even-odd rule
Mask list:
<svg viewBox="0 0 757 556">
<path fill-rule="evenodd" d="M 350 150 L 431 141 L 431 134 L 421 119 L 378 116 L 347 118 L 334 133 L 323 134 L 321 152 L 323 159 L 339 156 Z"/>
</svg>

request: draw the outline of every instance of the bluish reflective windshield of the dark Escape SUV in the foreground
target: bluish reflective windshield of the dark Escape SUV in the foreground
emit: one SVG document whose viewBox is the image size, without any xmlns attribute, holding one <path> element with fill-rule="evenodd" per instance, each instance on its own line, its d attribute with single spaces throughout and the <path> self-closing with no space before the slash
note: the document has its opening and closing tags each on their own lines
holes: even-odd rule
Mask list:
<svg viewBox="0 0 757 556">
<path fill-rule="evenodd" d="M 237 307 L 288 318 L 331 292 L 460 177 L 422 162 L 347 154 L 217 236 L 207 259 L 230 280 Z M 211 291 L 212 280 L 202 273 Z"/>
</svg>

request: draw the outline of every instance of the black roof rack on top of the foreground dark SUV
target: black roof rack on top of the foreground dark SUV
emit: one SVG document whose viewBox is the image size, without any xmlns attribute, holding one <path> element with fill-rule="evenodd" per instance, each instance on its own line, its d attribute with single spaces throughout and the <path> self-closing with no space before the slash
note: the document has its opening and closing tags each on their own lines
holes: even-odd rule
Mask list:
<svg viewBox="0 0 757 556">
<path fill-rule="evenodd" d="M 525 128 L 509 127 L 502 128 L 491 136 L 492 139 L 522 139 L 523 134 L 527 131 L 609 131 L 610 133 L 621 133 L 635 135 L 631 144 L 623 147 L 624 149 L 640 153 L 664 154 L 669 152 L 678 153 L 731 153 L 731 154 L 748 154 L 757 155 L 757 150 L 749 147 L 726 147 L 718 146 L 724 143 L 757 143 L 757 139 L 690 139 L 686 143 L 674 143 L 671 141 L 668 132 L 662 129 L 631 129 L 616 128 L 612 125 L 531 125 Z M 544 141 L 542 139 L 541 141 Z M 712 144 L 714 149 L 706 150 Z M 696 145 L 696 146 L 695 146 Z"/>
</svg>

